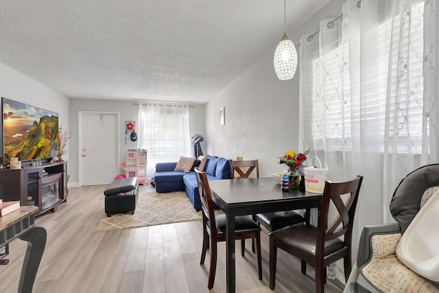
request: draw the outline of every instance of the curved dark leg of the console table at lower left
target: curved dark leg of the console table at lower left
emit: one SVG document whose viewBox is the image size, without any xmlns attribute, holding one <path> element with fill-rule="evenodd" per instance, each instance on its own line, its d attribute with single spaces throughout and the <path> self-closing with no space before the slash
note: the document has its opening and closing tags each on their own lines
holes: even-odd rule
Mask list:
<svg viewBox="0 0 439 293">
<path fill-rule="evenodd" d="M 41 257 L 43 257 L 46 246 L 47 232 L 46 229 L 34 226 L 20 236 L 20 239 L 27 242 L 23 268 L 19 283 L 19 292 L 32 292 L 36 272 L 40 266 Z"/>
</svg>

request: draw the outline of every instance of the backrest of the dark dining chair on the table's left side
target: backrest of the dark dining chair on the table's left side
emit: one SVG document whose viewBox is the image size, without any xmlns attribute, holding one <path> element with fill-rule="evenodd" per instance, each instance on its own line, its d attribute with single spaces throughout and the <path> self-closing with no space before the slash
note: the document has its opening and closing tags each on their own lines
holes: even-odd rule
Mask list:
<svg viewBox="0 0 439 293">
<path fill-rule="evenodd" d="M 201 209 L 204 220 L 207 220 L 207 225 L 211 228 L 211 235 L 217 234 L 217 225 L 215 222 L 215 210 L 213 209 L 213 201 L 209 181 L 207 180 L 206 172 L 195 170 L 197 177 L 198 193 L 200 194 Z"/>
</svg>

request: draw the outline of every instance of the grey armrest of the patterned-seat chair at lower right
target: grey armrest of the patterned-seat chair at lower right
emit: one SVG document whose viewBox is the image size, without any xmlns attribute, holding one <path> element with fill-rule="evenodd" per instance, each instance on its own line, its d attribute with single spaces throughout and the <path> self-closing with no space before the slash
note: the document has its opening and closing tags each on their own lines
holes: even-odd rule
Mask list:
<svg viewBox="0 0 439 293">
<path fill-rule="evenodd" d="M 368 263 L 370 260 L 372 255 L 372 247 L 370 247 L 370 243 L 373 235 L 395 233 L 401 233 L 401 227 L 397 223 L 364 226 L 363 230 L 361 230 L 361 236 L 359 237 L 357 267 L 361 268 L 361 266 Z"/>
</svg>

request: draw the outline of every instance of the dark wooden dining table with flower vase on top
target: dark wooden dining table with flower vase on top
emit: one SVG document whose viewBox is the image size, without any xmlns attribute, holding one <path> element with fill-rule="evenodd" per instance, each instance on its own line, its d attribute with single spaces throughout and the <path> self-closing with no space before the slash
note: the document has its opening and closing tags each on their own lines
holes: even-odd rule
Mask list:
<svg viewBox="0 0 439 293">
<path fill-rule="evenodd" d="M 210 180 L 212 200 L 226 214 L 226 290 L 235 292 L 235 217 L 320 207 L 322 194 L 282 191 L 272 177 Z"/>
</svg>

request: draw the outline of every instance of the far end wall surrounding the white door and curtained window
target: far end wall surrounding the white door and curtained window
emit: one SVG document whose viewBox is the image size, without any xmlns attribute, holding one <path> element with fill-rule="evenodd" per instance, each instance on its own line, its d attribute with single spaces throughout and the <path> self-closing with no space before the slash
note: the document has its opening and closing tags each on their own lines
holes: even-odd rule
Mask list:
<svg viewBox="0 0 439 293">
<path fill-rule="evenodd" d="M 204 104 L 193 104 L 189 107 L 189 133 L 191 136 L 201 134 L 206 135 L 206 128 L 204 123 L 205 115 Z M 104 111 L 117 112 L 120 115 L 119 125 L 119 162 L 126 161 L 126 151 L 128 149 L 137 148 L 137 141 L 128 139 L 125 144 L 125 121 L 136 121 L 139 117 L 138 104 L 130 101 L 115 101 L 103 99 L 70 99 L 70 125 L 72 137 L 70 139 L 69 153 L 71 160 L 69 161 L 70 186 L 78 185 L 78 111 Z M 102 142 L 103 145 L 105 142 Z M 204 142 L 201 144 L 204 152 Z M 192 150 L 193 152 L 193 150 Z M 122 171 L 122 170 L 121 170 Z M 115 174 L 116 176 L 117 174 Z"/>
</svg>

